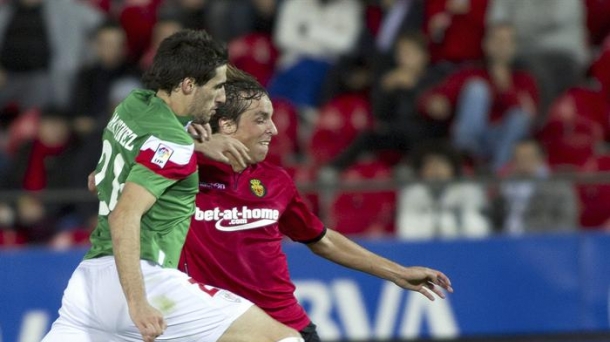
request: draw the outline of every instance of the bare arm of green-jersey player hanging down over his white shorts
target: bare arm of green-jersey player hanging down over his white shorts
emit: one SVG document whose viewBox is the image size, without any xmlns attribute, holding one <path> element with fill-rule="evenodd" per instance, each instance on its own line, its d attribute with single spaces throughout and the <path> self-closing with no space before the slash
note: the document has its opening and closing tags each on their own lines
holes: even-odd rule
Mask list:
<svg viewBox="0 0 610 342">
<path fill-rule="evenodd" d="M 140 220 L 155 201 L 148 190 L 127 182 L 117 206 L 108 217 L 115 262 L 129 315 L 146 342 L 154 341 L 166 327 L 161 312 L 146 299 L 140 268 Z"/>
</svg>

